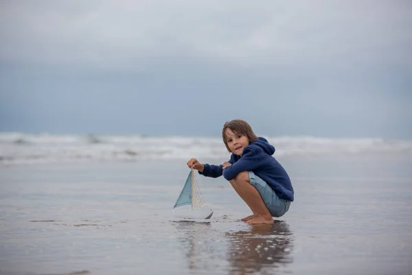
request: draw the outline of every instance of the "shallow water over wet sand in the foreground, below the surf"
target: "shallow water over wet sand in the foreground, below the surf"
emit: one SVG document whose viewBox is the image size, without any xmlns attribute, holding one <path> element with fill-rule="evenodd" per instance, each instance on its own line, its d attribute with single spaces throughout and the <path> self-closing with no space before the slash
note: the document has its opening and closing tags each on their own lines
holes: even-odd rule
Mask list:
<svg viewBox="0 0 412 275">
<path fill-rule="evenodd" d="M 223 179 L 214 215 L 176 221 L 181 161 L 0 168 L 0 274 L 411 274 L 410 159 L 281 159 L 296 197 L 247 225 Z"/>
</svg>

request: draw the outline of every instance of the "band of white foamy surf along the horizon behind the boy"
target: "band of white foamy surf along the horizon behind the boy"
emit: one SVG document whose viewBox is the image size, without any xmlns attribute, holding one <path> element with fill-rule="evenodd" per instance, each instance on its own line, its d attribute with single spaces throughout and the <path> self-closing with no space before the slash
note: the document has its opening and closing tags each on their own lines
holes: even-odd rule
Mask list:
<svg viewBox="0 0 412 275">
<path fill-rule="evenodd" d="M 267 137 L 275 156 L 396 154 L 412 156 L 412 140 Z M 228 159 L 221 137 L 33 135 L 0 133 L 0 164 L 136 159 Z"/>
</svg>

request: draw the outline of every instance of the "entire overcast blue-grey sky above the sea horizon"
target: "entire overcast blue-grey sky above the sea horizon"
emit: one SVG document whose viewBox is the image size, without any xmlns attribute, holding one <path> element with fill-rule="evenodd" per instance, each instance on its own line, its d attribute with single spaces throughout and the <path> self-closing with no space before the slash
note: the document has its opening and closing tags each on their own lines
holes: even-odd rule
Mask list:
<svg viewBox="0 0 412 275">
<path fill-rule="evenodd" d="M 0 131 L 412 138 L 412 1 L 1 1 Z"/>
</svg>

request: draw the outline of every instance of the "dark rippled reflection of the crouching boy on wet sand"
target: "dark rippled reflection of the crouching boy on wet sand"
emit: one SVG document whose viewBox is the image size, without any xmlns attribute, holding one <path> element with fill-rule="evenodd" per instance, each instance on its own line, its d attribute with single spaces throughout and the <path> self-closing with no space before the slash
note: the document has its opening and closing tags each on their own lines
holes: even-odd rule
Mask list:
<svg viewBox="0 0 412 275">
<path fill-rule="evenodd" d="M 274 274 L 293 262 L 293 234 L 284 221 L 273 225 L 251 225 L 250 230 L 229 232 L 229 274 Z"/>
</svg>

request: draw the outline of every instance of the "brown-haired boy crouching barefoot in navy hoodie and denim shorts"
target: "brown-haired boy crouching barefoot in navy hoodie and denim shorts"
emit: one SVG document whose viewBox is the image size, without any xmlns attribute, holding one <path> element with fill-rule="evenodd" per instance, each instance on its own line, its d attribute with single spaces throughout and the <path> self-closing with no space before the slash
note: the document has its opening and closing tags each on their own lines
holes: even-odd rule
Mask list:
<svg viewBox="0 0 412 275">
<path fill-rule="evenodd" d="M 272 156 L 275 147 L 264 137 L 257 137 L 244 120 L 226 122 L 222 138 L 231 153 L 229 162 L 201 164 L 192 158 L 187 166 L 205 177 L 223 175 L 252 210 L 253 214 L 242 221 L 273 223 L 272 217 L 282 217 L 294 199 L 294 190 L 288 173 Z"/>
</svg>

